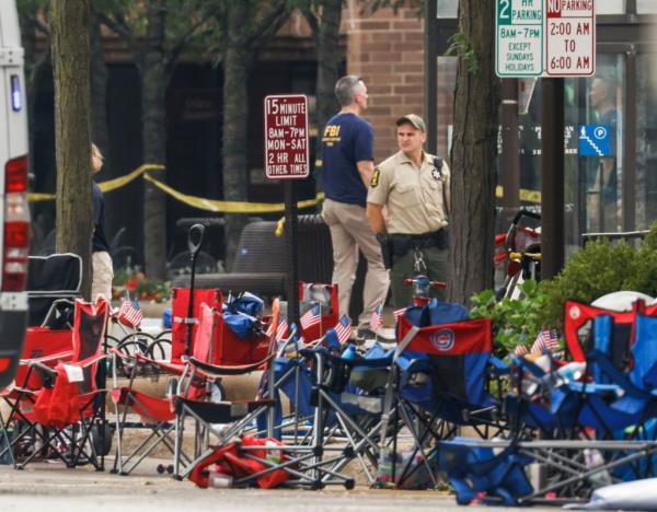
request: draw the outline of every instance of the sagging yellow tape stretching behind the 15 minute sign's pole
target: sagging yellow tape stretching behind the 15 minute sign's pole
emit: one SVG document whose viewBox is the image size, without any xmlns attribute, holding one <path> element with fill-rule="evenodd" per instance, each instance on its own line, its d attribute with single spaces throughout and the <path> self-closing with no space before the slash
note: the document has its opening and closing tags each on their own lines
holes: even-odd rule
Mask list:
<svg viewBox="0 0 657 512">
<path fill-rule="evenodd" d="M 214 211 L 216 213 L 278 213 L 285 211 L 285 203 L 283 202 L 246 202 L 246 201 L 224 201 L 220 199 L 205 199 L 203 197 L 189 196 L 187 194 L 180 193 L 169 185 L 159 182 L 148 173 L 143 174 L 143 179 L 152 183 L 155 187 L 162 190 L 164 194 L 170 195 L 174 199 L 177 199 L 185 205 L 188 205 L 199 210 Z M 324 199 L 324 193 L 319 193 L 314 199 L 307 199 L 304 201 L 297 202 L 297 208 L 311 208 L 316 206 Z"/>
</svg>

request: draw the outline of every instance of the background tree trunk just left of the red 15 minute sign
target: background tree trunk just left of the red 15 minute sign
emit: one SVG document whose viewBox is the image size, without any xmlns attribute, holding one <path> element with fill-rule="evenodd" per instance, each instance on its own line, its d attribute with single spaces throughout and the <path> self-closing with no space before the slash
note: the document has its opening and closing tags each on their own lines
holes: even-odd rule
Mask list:
<svg viewBox="0 0 657 512">
<path fill-rule="evenodd" d="M 249 49 L 244 48 L 245 28 L 250 24 L 247 2 L 231 7 L 228 14 L 228 45 L 223 59 L 223 197 L 243 201 L 247 198 L 246 137 L 249 97 Z M 226 264 L 232 269 L 238 243 L 246 216 L 226 216 Z"/>
</svg>

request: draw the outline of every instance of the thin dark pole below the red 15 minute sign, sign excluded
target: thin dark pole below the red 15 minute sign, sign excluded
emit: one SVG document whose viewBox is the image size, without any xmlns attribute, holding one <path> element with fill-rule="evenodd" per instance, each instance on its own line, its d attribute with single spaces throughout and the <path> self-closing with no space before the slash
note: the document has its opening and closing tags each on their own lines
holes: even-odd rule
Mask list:
<svg viewBox="0 0 657 512">
<path fill-rule="evenodd" d="M 299 255 L 297 253 L 298 219 L 297 186 L 293 179 L 286 179 L 285 190 L 285 252 L 287 258 L 287 322 L 299 325 Z"/>
</svg>

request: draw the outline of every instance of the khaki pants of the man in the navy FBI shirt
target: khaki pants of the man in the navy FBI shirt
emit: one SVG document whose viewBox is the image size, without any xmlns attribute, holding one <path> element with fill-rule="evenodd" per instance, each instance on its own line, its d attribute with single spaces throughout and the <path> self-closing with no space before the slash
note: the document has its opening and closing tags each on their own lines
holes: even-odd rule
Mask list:
<svg viewBox="0 0 657 512">
<path fill-rule="evenodd" d="M 381 246 L 358 205 L 324 200 L 322 217 L 331 230 L 333 243 L 333 282 L 337 284 L 339 314 L 349 314 L 351 288 L 356 280 L 358 249 L 367 259 L 367 275 L 362 292 L 364 309 L 358 316 L 358 327 L 369 326 L 372 311 L 385 301 L 390 278 L 383 266 Z"/>
</svg>

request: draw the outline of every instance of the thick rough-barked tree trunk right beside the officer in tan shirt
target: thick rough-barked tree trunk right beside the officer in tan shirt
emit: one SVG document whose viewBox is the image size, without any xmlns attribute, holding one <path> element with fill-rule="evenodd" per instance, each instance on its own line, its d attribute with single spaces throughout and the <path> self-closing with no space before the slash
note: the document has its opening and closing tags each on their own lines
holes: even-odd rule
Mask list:
<svg viewBox="0 0 657 512">
<path fill-rule="evenodd" d="M 454 93 L 448 289 L 451 301 L 465 303 L 493 286 L 499 107 L 499 81 L 491 53 L 495 2 L 461 0 L 459 26 L 470 45 L 459 55 Z M 476 70 L 469 68 L 464 51 L 474 54 Z"/>
</svg>

